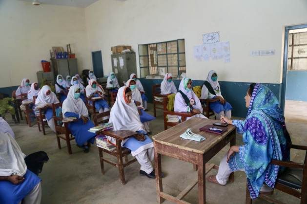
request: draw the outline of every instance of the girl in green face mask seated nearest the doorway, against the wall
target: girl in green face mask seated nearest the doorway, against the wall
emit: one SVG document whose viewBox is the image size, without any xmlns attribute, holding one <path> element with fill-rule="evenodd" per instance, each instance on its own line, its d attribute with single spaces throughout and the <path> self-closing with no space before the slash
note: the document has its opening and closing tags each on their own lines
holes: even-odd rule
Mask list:
<svg viewBox="0 0 307 204">
<path fill-rule="evenodd" d="M 217 120 L 220 120 L 221 116 L 225 116 L 227 118 L 231 117 L 231 105 L 225 101 L 222 96 L 220 84 L 218 81 L 218 75 L 215 71 L 211 70 L 207 76 L 207 80 L 205 81 L 202 87 L 202 99 L 207 98 L 218 98 L 220 101 L 216 101 L 210 103 L 210 109 L 213 110 L 215 117 Z"/>
</svg>

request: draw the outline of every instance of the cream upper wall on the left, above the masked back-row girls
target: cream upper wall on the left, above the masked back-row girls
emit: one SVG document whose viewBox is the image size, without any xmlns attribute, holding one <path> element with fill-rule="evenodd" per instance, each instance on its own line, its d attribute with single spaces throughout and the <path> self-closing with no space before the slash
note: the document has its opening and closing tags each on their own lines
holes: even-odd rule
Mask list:
<svg viewBox="0 0 307 204">
<path fill-rule="evenodd" d="M 49 61 L 52 46 L 71 44 L 79 71 L 89 68 L 84 8 L 33 6 L 20 0 L 0 0 L 0 87 L 37 81 L 41 59 Z"/>
</svg>

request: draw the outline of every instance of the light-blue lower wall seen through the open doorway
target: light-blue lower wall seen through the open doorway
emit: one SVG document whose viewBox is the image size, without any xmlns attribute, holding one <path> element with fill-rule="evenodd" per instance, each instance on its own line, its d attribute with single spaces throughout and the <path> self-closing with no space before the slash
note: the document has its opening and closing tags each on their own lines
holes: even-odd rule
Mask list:
<svg viewBox="0 0 307 204">
<path fill-rule="evenodd" d="M 307 101 L 307 70 L 287 72 L 286 100 Z"/>
</svg>

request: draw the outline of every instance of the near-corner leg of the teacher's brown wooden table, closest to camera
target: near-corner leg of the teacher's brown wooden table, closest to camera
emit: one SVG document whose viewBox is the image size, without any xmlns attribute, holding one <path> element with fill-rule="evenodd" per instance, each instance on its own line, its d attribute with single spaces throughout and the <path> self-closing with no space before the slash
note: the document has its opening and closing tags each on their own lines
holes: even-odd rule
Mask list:
<svg viewBox="0 0 307 204">
<path fill-rule="evenodd" d="M 204 154 L 198 155 L 198 203 L 206 203 Z"/>
</svg>

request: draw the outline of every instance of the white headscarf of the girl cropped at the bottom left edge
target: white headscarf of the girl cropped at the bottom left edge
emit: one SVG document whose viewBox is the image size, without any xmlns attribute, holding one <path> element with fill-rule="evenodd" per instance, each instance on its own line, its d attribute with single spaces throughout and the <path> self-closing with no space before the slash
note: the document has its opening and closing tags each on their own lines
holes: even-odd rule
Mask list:
<svg viewBox="0 0 307 204">
<path fill-rule="evenodd" d="M 0 155 L 0 176 L 23 176 L 26 173 L 25 154 L 8 133 L 0 132 Z"/>
</svg>

